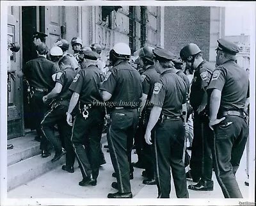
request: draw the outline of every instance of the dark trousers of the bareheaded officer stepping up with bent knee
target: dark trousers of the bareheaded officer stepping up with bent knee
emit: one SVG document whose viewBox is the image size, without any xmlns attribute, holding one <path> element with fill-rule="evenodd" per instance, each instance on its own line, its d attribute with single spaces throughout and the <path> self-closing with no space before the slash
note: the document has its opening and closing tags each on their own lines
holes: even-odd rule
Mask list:
<svg viewBox="0 0 256 206">
<path fill-rule="evenodd" d="M 71 143 L 72 127 L 67 123 L 66 112 L 68 111 L 68 105 L 59 104 L 56 107 L 52 107 L 48 111 L 44 119 L 42 120 L 42 132 L 54 147 L 55 152 L 61 152 L 62 147 L 67 151 L 66 165 L 74 166 L 75 152 Z M 54 136 L 54 125 L 58 124 L 58 130 L 60 136 Z"/>
</svg>

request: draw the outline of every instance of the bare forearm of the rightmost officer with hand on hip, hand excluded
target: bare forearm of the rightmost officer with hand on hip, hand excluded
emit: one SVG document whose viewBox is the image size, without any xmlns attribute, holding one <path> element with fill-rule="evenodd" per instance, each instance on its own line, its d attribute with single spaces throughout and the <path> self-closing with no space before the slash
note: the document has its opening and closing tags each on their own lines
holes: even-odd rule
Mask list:
<svg viewBox="0 0 256 206">
<path fill-rule="evenodd" d="M 217 119 L 217 114 L 220 108 L 221 91 L 218 89 L 212 90 L 210 97 L 210 121 Z"/>
</svg>

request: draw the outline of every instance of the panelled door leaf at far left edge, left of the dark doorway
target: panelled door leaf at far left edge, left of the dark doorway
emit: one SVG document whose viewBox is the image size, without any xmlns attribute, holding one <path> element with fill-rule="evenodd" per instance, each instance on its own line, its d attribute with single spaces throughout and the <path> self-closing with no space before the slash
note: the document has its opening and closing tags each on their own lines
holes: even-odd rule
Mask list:
<svg viewBox="0 0 256 206">
<path fill-rule="evenodd" d="M 9 6 L 8 7 L 8 44 L 13 42 L 19 42 L 20 44 L 20 7 Z M 20 53 L 8 52 L 8 61 L 10 61 L 10 67 L 12 70 L 20 70 Z M 7 70 L 6 70 L 7 72 Z M 22 114 L 22 86 L 21 80 L 11 77 L 8 78 L 8 139 L 16 138 L 24 135 L 24 121 Z"/>
</svg>

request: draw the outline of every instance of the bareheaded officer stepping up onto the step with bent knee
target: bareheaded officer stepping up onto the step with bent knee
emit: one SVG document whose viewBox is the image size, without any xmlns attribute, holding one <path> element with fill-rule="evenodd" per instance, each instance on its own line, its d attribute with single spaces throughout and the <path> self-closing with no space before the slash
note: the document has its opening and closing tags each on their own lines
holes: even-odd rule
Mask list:
<svg viewBox="0 0 256 206">
<path fill-rule="evenodd" d="M 51 161 L 58 161 L 66 153 L 61 146 L 61 139 L 63 139 L 65 141 L 65 149 L 67 150 L 66 165 L 63 168 L 69 172 L 74 172 L 75 154 L 70 141 L 72 127 L 67 124 L 66 112 L 68 111 L 68 104 L 72 95 L 68 88 L 76 76 L 76 71 L 72 68 L 72 59 L 68 56 L 61 58 L 59 65 L 61 71 L 56 74 L 56 84 L 52 91 L 43 97 L 44 102 L 52 99 L 53 102 L 50 111 L 44 116 L 41 125 L 45 138 L 49 139 L 55 150 L 55 155 Z M 57 123 L 58 128 L 61 130 L 61 139 L 54 136 L 54 125 Z"/>
</svg>

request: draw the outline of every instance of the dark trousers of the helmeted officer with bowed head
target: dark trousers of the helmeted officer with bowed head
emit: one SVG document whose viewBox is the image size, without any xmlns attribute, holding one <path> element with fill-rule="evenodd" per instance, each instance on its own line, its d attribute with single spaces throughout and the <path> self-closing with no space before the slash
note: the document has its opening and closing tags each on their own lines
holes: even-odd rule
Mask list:
<svg viewBox="0 0 256 206">
<path fill-rule="evenodd" d="M 209 118 L 205 115 L 196 115 L 193 119 L 194 138 L 191 150 L 191 176 L 201 178 L 205 187 L 212 186 L 212 137 L 209 127 Z"/>
</svg>

